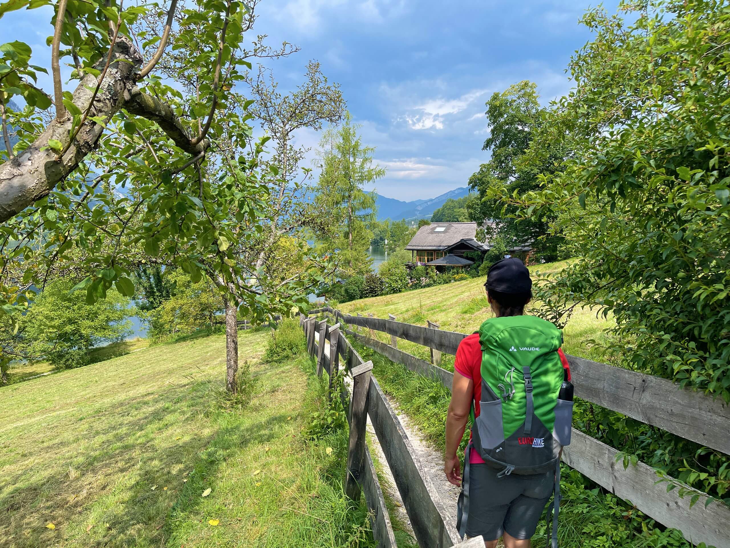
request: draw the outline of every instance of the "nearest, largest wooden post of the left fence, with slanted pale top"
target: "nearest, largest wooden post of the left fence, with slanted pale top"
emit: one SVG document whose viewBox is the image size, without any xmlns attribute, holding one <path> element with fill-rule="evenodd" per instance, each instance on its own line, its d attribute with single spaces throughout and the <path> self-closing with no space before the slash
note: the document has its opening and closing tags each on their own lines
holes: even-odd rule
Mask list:
<svg viewBox="0 0 730 548">
<path fill-rule="evenodd" d="M 365 463 L 365 426 L 371 370 L 372 362 L 365 362 L 352 370 L 353 396 L 350 400 L 350 443 L 347 447 L 345 494 L 353 501 L 360 500 L 360 478 Z"/>
</svg>

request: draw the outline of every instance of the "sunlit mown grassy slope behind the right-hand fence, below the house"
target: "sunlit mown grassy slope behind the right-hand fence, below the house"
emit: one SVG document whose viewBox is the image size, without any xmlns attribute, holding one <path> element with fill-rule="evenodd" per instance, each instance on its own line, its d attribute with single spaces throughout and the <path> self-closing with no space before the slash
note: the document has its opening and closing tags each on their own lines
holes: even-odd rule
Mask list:
<svg viewBox="0 0 730 548">
<path fill-rule="evenodd" d="M 530 270 L 532 273 L 538 270 L 550 273 L 561 270 L 565 265 L 563 261 L 537 265 L 530 267 Z M 343 312 L 359 312 L 364 316 L 372 313 L 376 318 L 387 318 L 388 313 L 391 313 L 398 321 L 409 324 L 426 325 L 426 320 L 430 320 L 439 324 L 443 330 L 472 333 L 492 315 L 485 296 L 485 281 L 484 277 L 472 278 L 443 286 L 343 302 L 338 308 Z M 592 338 L 599 342 L 606 340 L 601 331 L 610 325 L 610 321 L 596 318 L 595 312 L 579 310 L 573 314 L 564 330 L 563 348 L 569 354 L 602 361 L 604 357 L 599 349 L 589 348 L 585 341 Z M 382 333 L 377 335 L 380 340 L 389 340 Z M 399 341 L 399 348 L 423 359 L 429 356 L 428 349 L 408 341 Z M 449 358 L 444 359 L 448 366 Z M 453 357 L 450 358 L 450 364 L 453 365 Z"/>
</svg>

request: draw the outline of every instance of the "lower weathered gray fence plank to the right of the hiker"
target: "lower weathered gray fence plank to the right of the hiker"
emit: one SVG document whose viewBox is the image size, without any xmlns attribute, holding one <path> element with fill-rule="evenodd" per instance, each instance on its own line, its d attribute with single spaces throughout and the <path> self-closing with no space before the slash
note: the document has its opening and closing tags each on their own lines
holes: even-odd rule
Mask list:
<svg viewBox="0 0 730 548">
<path fill-rule="evenodd" d="M 705 508 L 702 500 L 689 508 L 691 495 L 681 499 L 676 490 L 666 492 L 666 484 L 657 484 L 653 468 L 644 463 L 624 470 L 616 454 L 616 449 L 574 428 L 563 460 L 654 520 L 681 530 L 693 544 L 730 548 L 730 509 L 720 503 Z"/>
</svg>

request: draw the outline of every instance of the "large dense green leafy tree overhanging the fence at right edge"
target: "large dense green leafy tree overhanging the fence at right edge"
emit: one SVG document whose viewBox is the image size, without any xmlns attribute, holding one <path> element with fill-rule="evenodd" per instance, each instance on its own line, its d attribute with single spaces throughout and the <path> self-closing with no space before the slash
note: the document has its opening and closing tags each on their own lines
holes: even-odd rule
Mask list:
<svg viewBox="0 0 730 548">
<path fill-rule="evenodd" d="M 596 307 L 634 368 L 730 401 L 730 121 L 718 116 L 730 13 L 714 0 L 639 7 L 632 24 L 585 14 L 595 39 L 569 64 L 576 91 L 530 151 L 544 157 L 540 143 L 569 136 L 574 153 L 542 189 L 501 199 L 553 216 L 580 251 L 536 284 L 545 317 Z"/>
</svg>

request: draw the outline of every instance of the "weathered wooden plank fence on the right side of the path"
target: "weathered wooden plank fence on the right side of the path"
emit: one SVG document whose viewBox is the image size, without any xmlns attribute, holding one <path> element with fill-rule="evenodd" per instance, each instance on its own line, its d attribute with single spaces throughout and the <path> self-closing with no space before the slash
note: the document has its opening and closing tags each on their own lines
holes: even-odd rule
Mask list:
<svg viewBox="0 0 730 548">
<path fill-rule="evenodd" d="M 422 327 L 404 324 L 391 319 L 365 316 L 349 316 L 332 308 L 323 308 L 310 313 L 329 313 L 343 327 L 340 336 L 347 334 L 359 343 L 383 354 L 393 362 L 441 382 L 451 389 L 453 373 L 418 359 L 397 348 L 397 339 L 429 347 L 432 351 L 456 354 L 464 333 L 439 330 L 436 327 Z M 344 327 L 345 324 L 366 327 L 371 336 L 363 335 Z M 429 323 L 429 326 L 436 325 Z M 391 335 L 391 344 L 383 343 L 372 336 L 373 331 Z M 636 373 L 575 356 L 568 356 L 572 371 L 575 395 L 612 411 L 630 416 L 648 425 L 661 428 L 685 439 L 730 454 L 730 406 L 721 400 L 690 389 L 680 389 L 677 384 L 664 378 Z M 437 362 L 431 353 L 431 362 Z M 377 399 L 380 387 L 377 381 L 371 384 L 371 402 L 376 409 L 382 405 Z M 384 400 L 384 398 L 383 398 Z M 387 405 L 387 404 L 386 404 Z M 372 411 L 377 417 L 378 411 Z M 397 419 L 396 419 L 397 421 Z M 373 423 L 375 420 L 373 420 Z M 383 446 L 390 445 L 391 437 Z M 378 435 L 380 439 L 380 435 Z M 606 490 L 615 493 L 637 507 L 657 522 L 683 532 L 685 539 L 693 544 L 704 542 L 707 546 L 730 548 L 730 509 L 717 501 L 704 506 L 702 498 L 691 506 L 691 495 L 677 496 L 677 490 L 667 492 L 665 482 L 658 482 L 656 471 L 645 463 L 623 467 L 620 451 L 602 443 L 579 430 L 572 431 L 572 443 L 563 452 L 564 462 L 592 479 Z M 393 454 L 393 460 L 406 458 Z M 618 460 L 617 460 L 618 458 Z M 393 469 L 391 460 L 388 464 Z M 399 466 L 396 463 L 396 468 Z M 400 465 L 401 467 L 403 465 Z M 393 471 L 395 476 L 395 471 Z M 675 479 L 672 483 L 680 484 Z M 396 479 L 396 483 L 398 480 Z M 401 485 L 399 484 L 399 488 Z M 408 489 L 412 490 L 411 484 Z M 686 486 L 685 486 L 686 487 Z M 689 487 L 687 487 L 689 489 Z M 699 492 L 693 490 L 694 492 Z M 403 490 L 401 490 L 401 493 Z M 704 493 L 701 493 L 701 496 Z M 409 515 L 410 512 L 409 512 Z M 412 518 L 413 520 L 413 518 Z M 432 522 L 433 523 L 433 522 Z M 452 537 L 453 539 L 453 537 Z M 421 539 L 418 539 L 421 542 Z M 447 546 L 447 544 L 421 544 L 422 546 Z"/>
</svg>

